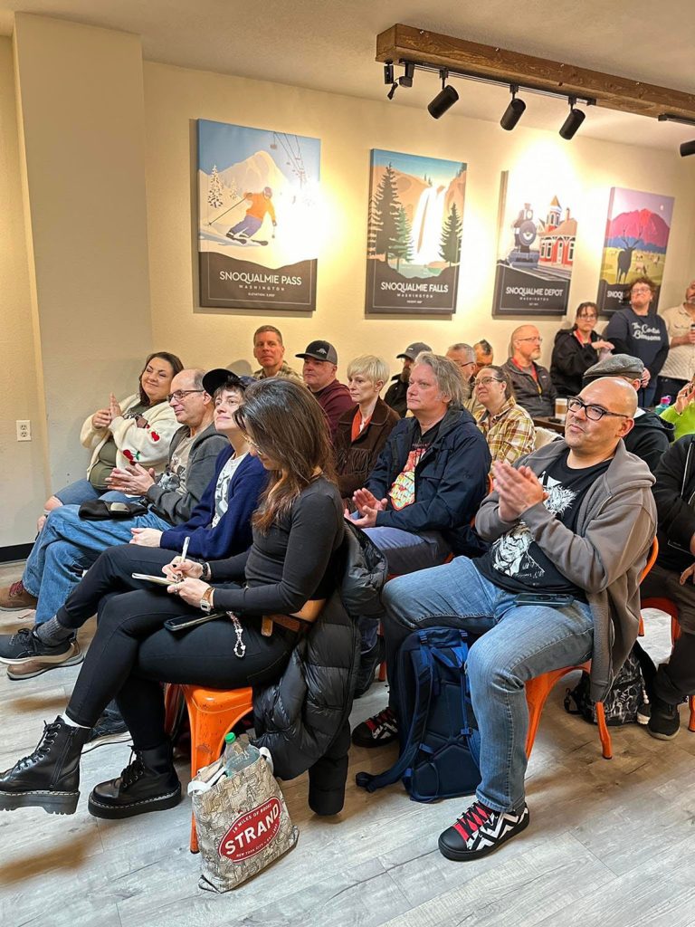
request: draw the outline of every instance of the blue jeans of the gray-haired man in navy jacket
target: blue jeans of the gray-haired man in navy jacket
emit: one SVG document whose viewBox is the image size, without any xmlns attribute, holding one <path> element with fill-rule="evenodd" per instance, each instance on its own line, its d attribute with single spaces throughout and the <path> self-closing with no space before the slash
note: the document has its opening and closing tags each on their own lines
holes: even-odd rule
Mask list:
<svg viewBox="0 0 695 927">
<path fill-rule="evenodd" d="M 354 518 L 360 515 L 355 513 Z M 373 540 L 374 544 L 385 555 L 388 572 L 402 576 L 404 573 L 413 573 L 423 570 L 427 566 L 443 564 L 449 556 L 451 548 L 438 531 L 422 531 L 413 534 L 403 531 L 399 527 L 368 527 L 364 533 Z M 372 650 L 379 634 L 378 618 L 360 618 L 360 634 L 362 638 L 361 653 Z"/>
</svg>

